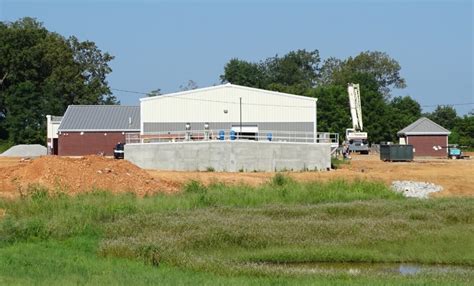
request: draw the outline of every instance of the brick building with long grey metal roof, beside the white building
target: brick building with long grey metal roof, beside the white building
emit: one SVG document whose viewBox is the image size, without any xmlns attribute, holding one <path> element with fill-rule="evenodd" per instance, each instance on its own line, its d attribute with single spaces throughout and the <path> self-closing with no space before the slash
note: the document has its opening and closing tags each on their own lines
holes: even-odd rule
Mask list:
<svg viewBox="0 0 474 286">
<path fill-rule="evenodd" d="M 140 107 L 70 105 L 58 128 L 58 155 L 112 156 L 128 133 L 140 132 Z"/>
</svg>

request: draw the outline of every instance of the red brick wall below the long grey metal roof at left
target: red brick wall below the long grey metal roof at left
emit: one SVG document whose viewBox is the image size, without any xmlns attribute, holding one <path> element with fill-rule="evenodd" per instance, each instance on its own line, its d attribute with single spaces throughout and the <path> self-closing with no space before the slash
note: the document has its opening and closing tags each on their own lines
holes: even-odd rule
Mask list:
<svg viewBox="0 0 474 286">
<path fill-rule="evenodd" d="M 105 135 L 107 134 L 107 135 Z M 63 132 L 59 135 L 58 155 L 84 156 L 104 153 L 114 154 L 115 145 L 125 142 L 122 132 Z"/>
</svg>

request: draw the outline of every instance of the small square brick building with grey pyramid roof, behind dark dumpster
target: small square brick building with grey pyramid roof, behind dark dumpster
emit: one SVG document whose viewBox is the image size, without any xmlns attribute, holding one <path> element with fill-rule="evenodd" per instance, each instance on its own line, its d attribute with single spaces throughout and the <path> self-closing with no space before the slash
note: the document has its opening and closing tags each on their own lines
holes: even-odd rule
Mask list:
<svg viewBox="0 0 474 286">
<path fill-rule="evenodd" d="M 416 157 L 446 157 L 450 133 L 446 128 L 422 117 L 398 131 L 397 135 L 400 144 L 413 145 Z"/>
</svg>

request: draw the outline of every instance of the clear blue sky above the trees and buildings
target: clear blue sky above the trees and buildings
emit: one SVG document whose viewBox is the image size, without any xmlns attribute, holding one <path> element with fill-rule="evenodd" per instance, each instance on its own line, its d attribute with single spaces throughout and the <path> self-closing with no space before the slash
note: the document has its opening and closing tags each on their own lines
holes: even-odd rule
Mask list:
<svg viewBox="0 0 474 286">
<path fill-rule="evenodd" d="M 219 84 L 232 58 L 260 61 L 297 49 L 322 59 L 382 51 L 397 60 L 424 112 L 474 109 L 471 0 L 0 0 L 0 20 L 34 17 L 90 40 L 115 59 L 111 88 L 169 93 Z M 113 91 L 123 105 L 143 95 Z M 470 103 L 470 104 L 467 104 Z"/>
</svg>

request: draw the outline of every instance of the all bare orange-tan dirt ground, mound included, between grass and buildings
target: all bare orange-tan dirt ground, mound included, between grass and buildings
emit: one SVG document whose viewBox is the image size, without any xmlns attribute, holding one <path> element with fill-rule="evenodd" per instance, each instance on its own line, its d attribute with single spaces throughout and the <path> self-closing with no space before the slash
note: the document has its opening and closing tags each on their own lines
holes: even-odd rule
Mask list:
<svg viewBox="0 0 474 286">
<path fill-rule="evenodd" d="M 298 181 L 378 180 L 390 185 L 395 180 L 431 182 L 444 190 L 434 196 L 474 196 L 474 153 L 472 159 L 417 159 L 414 162 L 382 162 L 378 155 L 353 156 L 349 164 L 329 172 L 289 172 Z M 41 157 L 31 161 L 0 158 L 0 196 L 15 197 L 30 184 L 60 188 L 70 193 L 106 188 L 112 191 L 175 192 L 190 180 L 204 184 L 259 185 L 274 173 L 173 172 L 142 170 L 135 165 L 109 158 Z"/>
</svg>

